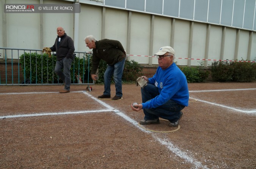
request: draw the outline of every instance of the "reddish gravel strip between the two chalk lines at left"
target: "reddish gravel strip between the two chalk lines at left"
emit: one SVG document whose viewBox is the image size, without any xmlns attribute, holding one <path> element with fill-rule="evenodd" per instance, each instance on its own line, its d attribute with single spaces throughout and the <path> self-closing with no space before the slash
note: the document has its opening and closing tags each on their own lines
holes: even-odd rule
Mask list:
<svg viewBox="0 0 256 169">
<path fill-rule="evenodd" d="M 30 92 L 28 94 L 14 92 L 13 94 L 3 94 L 1 97 L 3 100 L 6 100 L 6 103 L 1 106 L 1 109 L 5 110 L 1 116 L 10 114 L 85 111 L 87 105 L 91 104 L 91 98 L 85 97 L 82 91 L 71 92 L 68 98 L 63 96 L 59 92 Z M 67 102 L 67 100 L 69 101 Z M 13 106 L 13 103 L 15 103 L 15 106 Z M 106 108 L 98 104 L 95 110 L 101 109 Z"/>
</svg>

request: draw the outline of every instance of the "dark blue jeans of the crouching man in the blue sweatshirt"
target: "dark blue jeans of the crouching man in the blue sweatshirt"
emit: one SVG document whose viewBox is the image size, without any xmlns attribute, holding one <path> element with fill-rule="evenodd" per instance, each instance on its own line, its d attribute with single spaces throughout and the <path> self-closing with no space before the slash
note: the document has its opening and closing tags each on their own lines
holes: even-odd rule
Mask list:
<svg viewBox="0 0 256 169">
<path fill-rule="evenodd" d="M 159 95 L 159 91 L 154 85 L 148 84 L 143 89 L 141 88 L 142 103 L 146 103 L 157 95 Z M 145 114 L 144 120 L 155 120 L 161 117 L 170 122 L 175 122 L 181 116 L 181 110 L 184 108 L 185 106 L 182 106 L 173 100 L 168 100 L 165 104 L 157 108 L 143 109 Z"/>
</svg>

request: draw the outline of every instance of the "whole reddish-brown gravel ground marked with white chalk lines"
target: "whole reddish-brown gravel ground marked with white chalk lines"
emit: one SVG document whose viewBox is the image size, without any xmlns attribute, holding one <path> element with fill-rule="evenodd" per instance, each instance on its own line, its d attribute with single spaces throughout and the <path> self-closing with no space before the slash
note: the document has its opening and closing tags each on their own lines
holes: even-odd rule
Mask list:
<svg viewBox="0 0 256 169">
<path fill-rule="evenodd" d="M 143 111 L 130 104 L 140 87 L 123 85 L 116 101 L 97 99 L 103 85 L 86 87 L 0 86 L 0 168 L 256 168 L 256 82 L 189 83 L 175 132 L 164 120 L 138 125 Z"/>
</svg>

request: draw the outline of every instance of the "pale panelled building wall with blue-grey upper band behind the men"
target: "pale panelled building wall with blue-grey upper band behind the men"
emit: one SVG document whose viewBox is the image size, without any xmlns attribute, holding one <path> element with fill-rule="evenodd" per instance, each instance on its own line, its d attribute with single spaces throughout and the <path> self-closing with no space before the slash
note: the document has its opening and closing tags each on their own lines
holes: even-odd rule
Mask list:
<svg viewBox="0 0 256 169">
<path fill-rule="evenodd" d="M 256 60 L 256 0 L 0 0 L 0 46 L 42 49 L 58 26 L 75 51 L 90 51 L 84 38 L 119 40 L 128 55 L 152 56 L 172 46 L 176 58 Z M 80 13 L 6 13 L 5 4 L 73 4 Z M 3 53 L 3 51 L 0 51 Z M 18 57 L 17 55 L 15 57 Z M 3 55 L 0 57 L 3 59 Z M 15 58 L 14 58 L 15 59 Z M 129 56 L 146 65 L 155 57 Z M 197 66 L 198 60 L 176 59 Z M 212 61 L 205 61 L 207 66 Z"/>
</svg>

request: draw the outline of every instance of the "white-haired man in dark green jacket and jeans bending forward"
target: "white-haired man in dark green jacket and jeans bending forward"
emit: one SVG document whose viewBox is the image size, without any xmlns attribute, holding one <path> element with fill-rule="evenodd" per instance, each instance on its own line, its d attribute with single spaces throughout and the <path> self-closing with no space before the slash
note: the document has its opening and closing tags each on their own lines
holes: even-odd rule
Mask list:
<svg viewBox="0 0 256 169">
<path fill-rule="evenodd" d="M 112 100 L 122 98 L 122 75 L 124 71 L 124 63 L 126 52 L 122 44 L 118 40 L 102 39 L 97 41 L 93 35 L 85 37 L 86 46 L 93 49 L 93 60 L 91 66 L 91 78 L 97 80 L 96 71 L 99 63 L 102 60 L 106 61 L 108 66 L 104 73 L 104 92 L 98 98 L 110 98 L 111 77 L 114 74 L 116 95 Z"/>
</svg>

